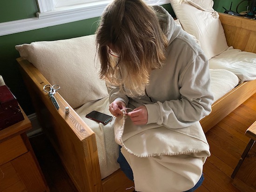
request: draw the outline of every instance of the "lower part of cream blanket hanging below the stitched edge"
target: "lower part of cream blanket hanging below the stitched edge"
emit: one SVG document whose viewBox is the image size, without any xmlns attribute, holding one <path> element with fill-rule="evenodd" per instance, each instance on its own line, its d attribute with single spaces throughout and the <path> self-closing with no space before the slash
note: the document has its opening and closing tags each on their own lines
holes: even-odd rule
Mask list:
<svg viewBox="0 0 256 192">
<path fill-rule="evenodd" d="M 121 152 L 134 169 L 137 192 L 182 192 L 195 186 L 202 175 L 202 158 L 188 155 L 139 158 Z"/>
</svg>

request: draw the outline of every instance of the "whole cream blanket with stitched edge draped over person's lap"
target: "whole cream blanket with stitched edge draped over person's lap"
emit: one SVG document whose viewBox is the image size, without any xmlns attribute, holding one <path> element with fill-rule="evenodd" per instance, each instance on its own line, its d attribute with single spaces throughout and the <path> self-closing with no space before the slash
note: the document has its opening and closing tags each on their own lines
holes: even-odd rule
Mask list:
<svg viewBox="0 0 256 192">
<path fill-rule="evenodd" d="M 202 175 L 209 145 L 199 122 L 181 129 L 157 124 L 135 126 L 116 119 L 115 141 L 134 173 L 138 192 L 182 192 Z"/>
</svg>

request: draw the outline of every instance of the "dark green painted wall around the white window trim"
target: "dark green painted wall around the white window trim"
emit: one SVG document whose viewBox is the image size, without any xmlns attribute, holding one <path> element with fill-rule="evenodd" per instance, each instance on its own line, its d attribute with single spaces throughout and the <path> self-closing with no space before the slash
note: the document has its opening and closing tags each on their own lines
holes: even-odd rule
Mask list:
<svg viewBox="0 0 256 192">
<path fill-rule="evenodd" d="M 36 2 L 36 0 L 0 0 L 0 23 L 35 17 L 38 12 Z M 214 8 L 216 11 L 224 12 L 222 6 L 229 8 L 230 2 L 231 0 L 215 0 Z M 235 0 L 233 0 L 234 7 L 236 6 L 235 4 Z M 163 7 L 175 16 L 170 4 L 163 5 Z M 30 96 L 27 93 L 27 87 L 22 80 L 19 65 L 15 60 L 20 56 L 15 49 L 15 45 L 31 43 L 33 41 L 68 39 L 93 34 L 96 30 L 97 20 L 99 18 L 0 36 L 0 75 L 3 76 L 7 86 L 16 96 L 20 106 L 27 115 L 34 113 L 34 108 L 30 101 Z"/>
</svg>

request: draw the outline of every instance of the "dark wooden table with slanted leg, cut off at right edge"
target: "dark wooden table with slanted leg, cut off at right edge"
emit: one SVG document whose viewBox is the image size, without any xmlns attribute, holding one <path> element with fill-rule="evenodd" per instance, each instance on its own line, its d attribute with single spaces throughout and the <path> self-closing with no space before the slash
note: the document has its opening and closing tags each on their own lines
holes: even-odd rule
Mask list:
<svg viewBox="0 0 256 192">
<path fill-rule="evenodd" d="M 232 184 L 241 192 L 256 192 L 256 121 L 245 132 L 250 140 L 231 175 Z"/>
</svg>

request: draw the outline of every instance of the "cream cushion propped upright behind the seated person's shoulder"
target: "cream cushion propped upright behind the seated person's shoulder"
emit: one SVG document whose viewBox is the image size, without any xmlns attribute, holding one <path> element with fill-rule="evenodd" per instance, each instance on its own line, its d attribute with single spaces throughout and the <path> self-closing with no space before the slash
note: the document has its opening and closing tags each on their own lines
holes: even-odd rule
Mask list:
<svg viewBox="0 0 256 192">
<path fill-rule="evenodd" d="M 212 0 L 207 1 L 213 5 Z M 228 45 L 221 21 L 215 19 L 213 12 L 199 9 L 200 6 L 195 7 L 195 3 L 192 5 L 189 0 L 170 0 L 170 2 L 183 29 L 199 40 L 208 59 L 227 50 Z"/>
</svg>

